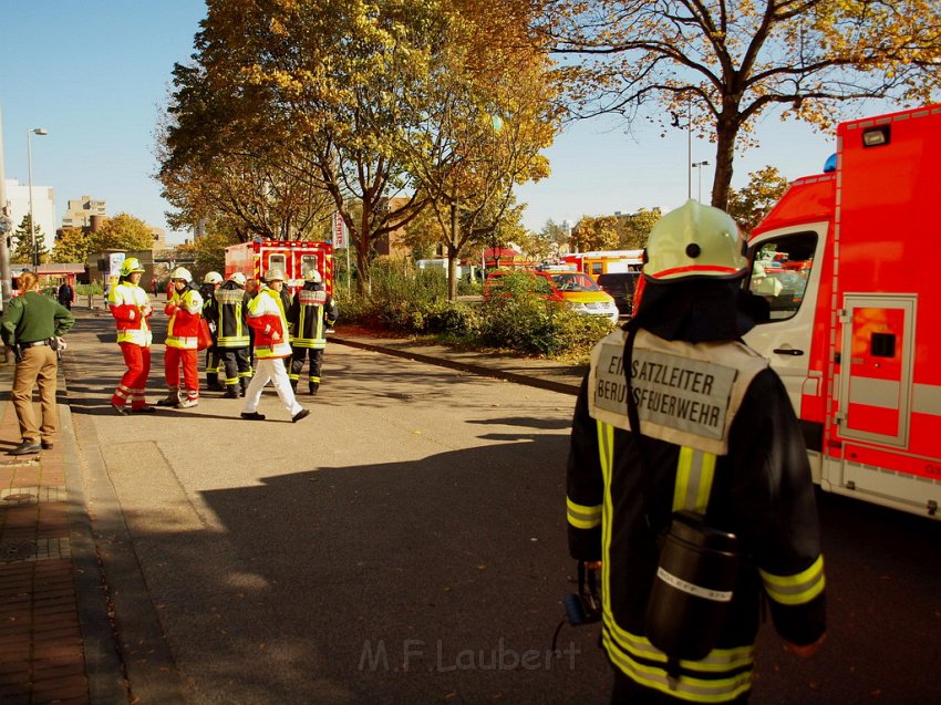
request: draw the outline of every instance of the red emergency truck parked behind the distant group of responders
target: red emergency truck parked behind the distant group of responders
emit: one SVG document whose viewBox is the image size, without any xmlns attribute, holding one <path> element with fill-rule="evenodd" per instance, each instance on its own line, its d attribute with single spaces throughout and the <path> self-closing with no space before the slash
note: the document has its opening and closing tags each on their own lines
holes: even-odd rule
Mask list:
<svg viewBox="0 0 941 705">
<path fill-rule="evenodd" d="M 323 287 L 333 293 L 333 246 L 307 240 L 256 240 L 226 248 L 226 279 L 241 272 L 246 279 L 259 281 L 269 269 L 281 269 L 291 291 L 303 286 L 303 272 L 316 267 Z"/>
</svg>

